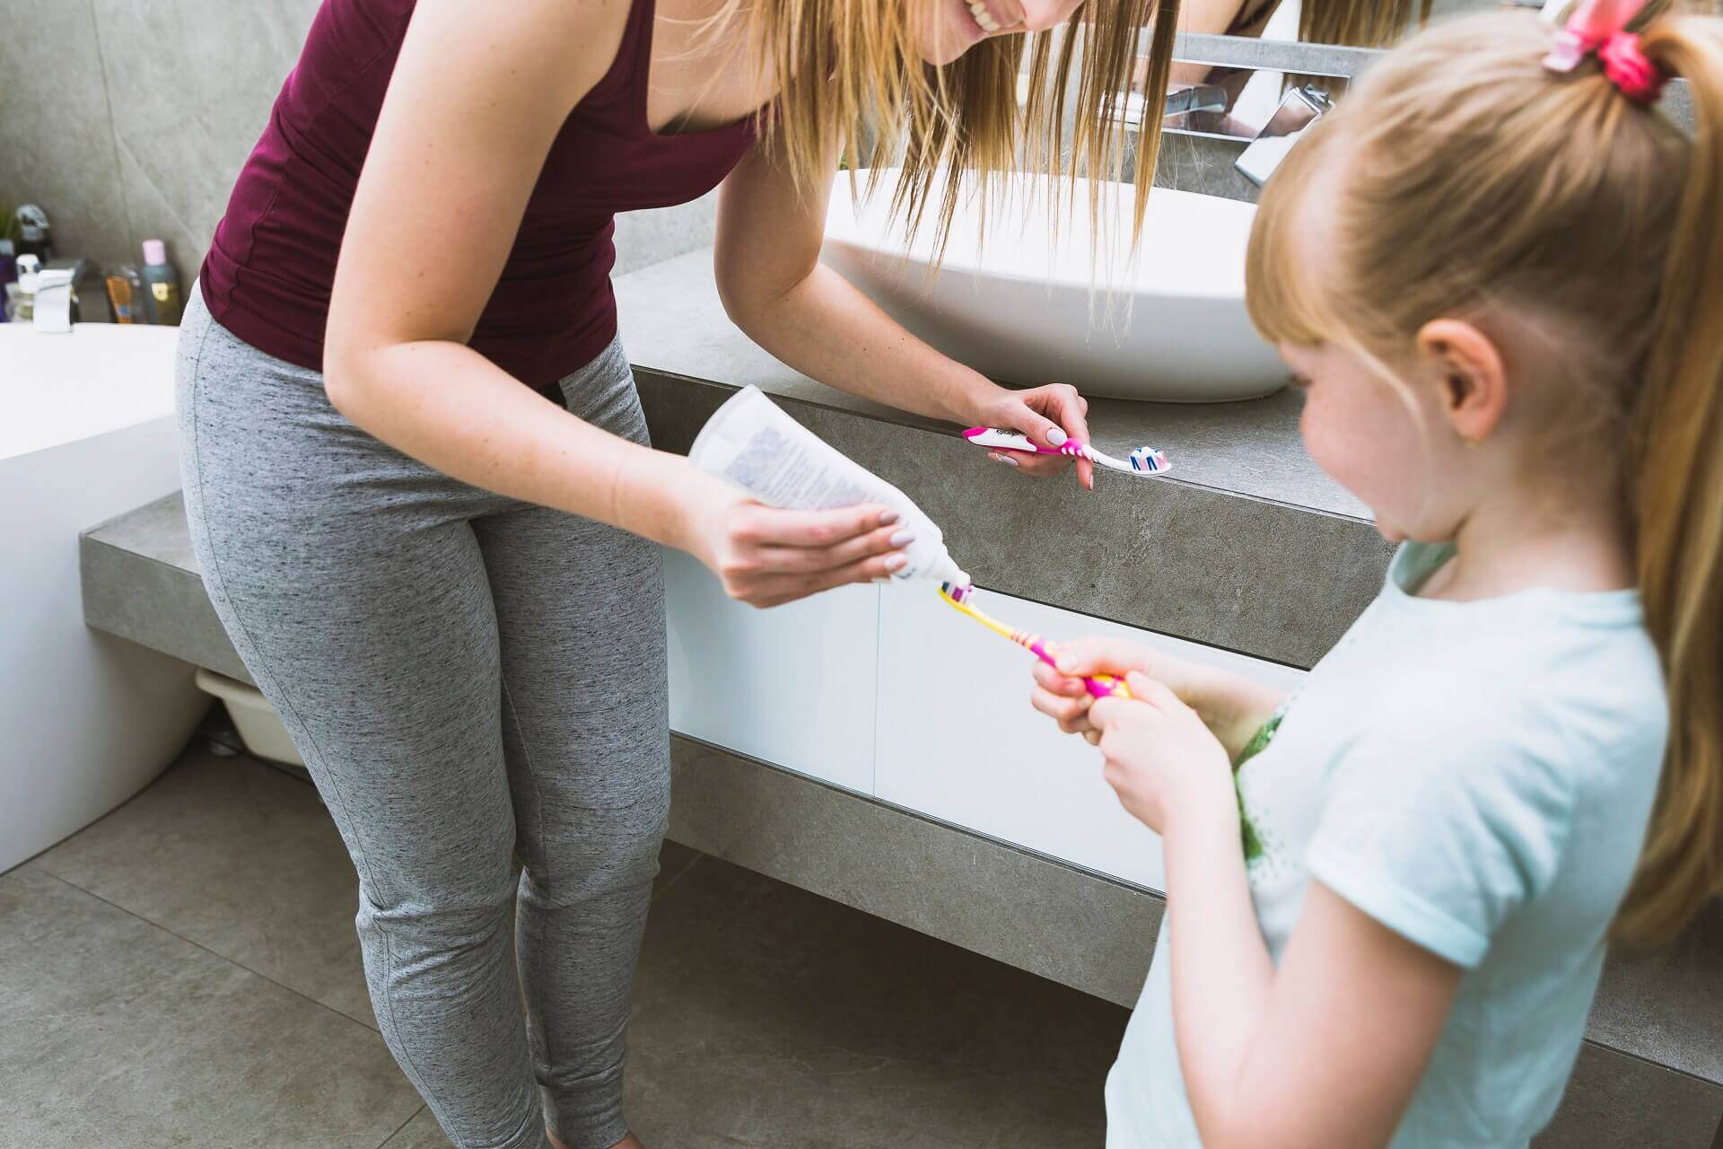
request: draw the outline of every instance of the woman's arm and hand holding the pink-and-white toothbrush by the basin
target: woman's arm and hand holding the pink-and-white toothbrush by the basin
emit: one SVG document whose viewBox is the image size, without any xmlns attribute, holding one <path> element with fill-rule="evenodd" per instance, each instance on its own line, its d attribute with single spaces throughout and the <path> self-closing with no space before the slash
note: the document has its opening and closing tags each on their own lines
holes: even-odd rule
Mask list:
<svg viewBox="0 0 1723 1149">
<path fill-rule="evenodd" d="M 905 331 L 843 276 L 820 264 L 837 157 L 820 188 L 798 195 L 762 143 L 724 181 L 715 272 L 724 308 L 748 336 L 796 370 L 841 391 L 965 425 L 1011 427 L 1046 446 L 1089 441 L 1087 403 L 1063 384 L 1011 391 Z M 1053 438 L 1049 438 L 1049 434 Z M 1032 456 L 1023 470 L 1070 460 Z M 1092 486 L 1092 467 L 1077 474 Z"/>
</svg>

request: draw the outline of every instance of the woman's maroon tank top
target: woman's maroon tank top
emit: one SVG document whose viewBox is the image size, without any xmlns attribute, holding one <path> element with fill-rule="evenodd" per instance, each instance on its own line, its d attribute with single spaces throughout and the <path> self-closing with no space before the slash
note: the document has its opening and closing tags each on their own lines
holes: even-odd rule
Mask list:
<svg viewBox="0 0 1723 1149">
<path fill-rule="evenodd" d="M 341 231 L 414 2 L 324 0 L 203 260 L 215 320 L 300 367 L 322 370 Z M 653 7 L 634 0 L 610 71 L 557 134 L 469 341 L 541 391 L 615 338 L 615 214 L 705 195 L 755 140 L 751 117 L 681 136 L 648 127 Z"/>
</svg>

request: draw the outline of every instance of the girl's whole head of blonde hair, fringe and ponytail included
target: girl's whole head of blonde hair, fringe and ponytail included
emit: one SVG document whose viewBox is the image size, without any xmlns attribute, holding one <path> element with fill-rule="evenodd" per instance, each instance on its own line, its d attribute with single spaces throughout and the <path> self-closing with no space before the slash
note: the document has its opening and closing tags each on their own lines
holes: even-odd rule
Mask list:
<svg viewBox="0 0 1723 1149">
<path fill-rule="evenodd" d="M 1551 43 L 1535 16 L 1494 14 L 1372 69 L 1265 189 L 1249 308 L 1268 339 L 1377 362 L 1444 315 L 1561 332 L 1552 365 L 1587 389 L 1556 422 L 1620 462 L 1668 679 L 1658 804 L 1616 920 L 1664 941 L 1723 887 L 1723 22 L 1661 17 L 1642 36 L 1689 81 L 1694 136 L 1595 62 L 1546 71 Z M 1313 186 L 1332 207 L 1320 246 Z M 1608 438 L 1585 408 L 1614 413 Z"/>
</svg>

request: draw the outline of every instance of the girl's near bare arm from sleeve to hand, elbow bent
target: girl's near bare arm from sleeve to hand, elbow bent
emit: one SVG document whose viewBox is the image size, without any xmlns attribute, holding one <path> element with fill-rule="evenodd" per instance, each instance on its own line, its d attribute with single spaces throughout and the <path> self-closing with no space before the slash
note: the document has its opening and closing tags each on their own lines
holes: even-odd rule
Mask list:
<svg viewBox="0 0 1723 1149">
<path fill-rule="evenodd" d="M 1406 1111 L 1461 970 L 1320 882 L 1278 968 L 1239 848 L 1225 749 L 1165 684 L 1101 699 L 1106 780 L 1161 835 L 1173 1025 L 1208 1149 L 1377 1149 Z"/>
</svg>

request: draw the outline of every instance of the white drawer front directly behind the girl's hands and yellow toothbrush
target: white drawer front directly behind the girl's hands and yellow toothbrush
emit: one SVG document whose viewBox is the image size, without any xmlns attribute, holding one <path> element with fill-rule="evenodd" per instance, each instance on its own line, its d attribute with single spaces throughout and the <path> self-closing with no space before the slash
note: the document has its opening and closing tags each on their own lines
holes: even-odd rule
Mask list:
<svg viewBox="0 0 1723 1149">
<path fill-rule="evenodd" d="M 1129 637 L 1294 689 L 1304 672 L 982 591 L 977 606 L 1051 639 Z M 1029 705 L 1034 655 L 951 610 L 930 586 L 880 591 L 874 792 L 1149 889 L 1161 842 L 1120 808 L 1099 753 Z"/>
</svg>

